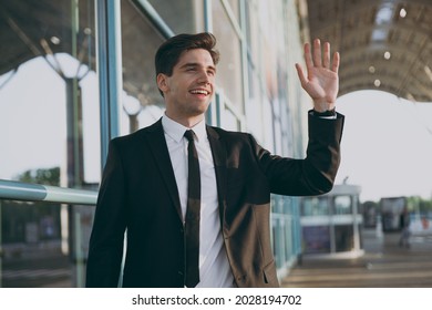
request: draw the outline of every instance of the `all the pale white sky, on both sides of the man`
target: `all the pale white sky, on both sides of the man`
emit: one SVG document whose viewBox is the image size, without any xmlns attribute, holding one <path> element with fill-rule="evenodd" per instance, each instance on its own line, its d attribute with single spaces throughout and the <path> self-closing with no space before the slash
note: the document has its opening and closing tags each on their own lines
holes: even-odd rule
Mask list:
<svg viewBox="0 0 432 310">
<path fill-rule="evenodd" d="M 2 81 L 0 76 L 0 85 Z M 82 84 L 85 180 L 95 183 L 101 169 L 95 130 L 99 100 L 89 91 L 96 89 L 95 74 L 86 75 Z M 0 89 L 0 178 L 64 166 L 64 93 L 61 79 L 38 60 L 20 66 Z M 394 196 L 432 198 L 432 103 L 361 91 L 339 97 L 337 110 L 346 116 L 337 184 L 360 185 L 362 202 Z M 127 122 L 122 124 L 127 126 Z"/>
</svg>

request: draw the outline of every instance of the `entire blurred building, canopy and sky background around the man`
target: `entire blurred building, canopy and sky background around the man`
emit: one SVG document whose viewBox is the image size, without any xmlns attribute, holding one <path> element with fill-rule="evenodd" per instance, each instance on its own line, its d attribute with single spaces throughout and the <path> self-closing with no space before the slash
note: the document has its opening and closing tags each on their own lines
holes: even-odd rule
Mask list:
<svg viewBox="0 0 432 310">
<path fill-rule="evenodd" d="M 429 0 L 0 0 L 0 287 L 84 286 L 109 141 L 161 117 L 154 53 L 200 31 L 222 53 L 207 123 L 289 157 L 312 106 L 302 45 L 341 53 L 337 185 L 271 197 L 281 282 L 344 286 L 330 271 L 349 266 L 381 279 L 350 286 L 432 287 Z"/>
</svg>

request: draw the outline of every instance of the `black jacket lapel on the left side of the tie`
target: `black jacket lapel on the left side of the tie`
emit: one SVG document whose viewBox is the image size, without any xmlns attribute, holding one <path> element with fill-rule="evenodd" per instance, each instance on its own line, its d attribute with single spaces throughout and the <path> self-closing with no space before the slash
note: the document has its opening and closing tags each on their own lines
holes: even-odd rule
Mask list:
<svg viewBox="0 0 432 310">
<path fill-rule="evenodd" d="M 168 189 L 169 196 L 177 210 L 178 217 L 183 221 L 182 206 L 179 203 L 177 184 L 175 182 L 168 147 L 166 146 L 164 130 L 162 126 L 162 118 L 157 121 L 154 125 L 148 127 L 146 137 L 155 165 L 161 172 L 161 175 Z"/>
</svg>

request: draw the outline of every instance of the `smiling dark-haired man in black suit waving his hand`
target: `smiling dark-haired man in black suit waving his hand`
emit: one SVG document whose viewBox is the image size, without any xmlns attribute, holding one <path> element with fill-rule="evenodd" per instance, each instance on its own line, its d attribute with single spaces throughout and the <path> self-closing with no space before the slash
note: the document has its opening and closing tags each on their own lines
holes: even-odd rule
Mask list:
<svg viewBox="0 0 432 310">
<path fill-rule="evenodd" d="M 313 53 L 305 45 L 307 76 L 298 64 L 297 70 L 313 111 L 307 157 L 292 159 L 271 155 L 249 134 L 205 124 L 215 92 L 215 43 L 210 33 L 181 34 L 158 49 L 156 82 L 166 111 L 155 124 L 110 144 L 88 287 L 117 286 L 125 230 L 124 287 L 278 287 L 270 193 L 318 195 L 332 188 L 343 124 L 335 112 L 338 53 L 330 64 L 328 43 L 322 56 L 318 40 Z M 193 133 L 186 138 L 188 130 Z M 195 152 L 198 164 L 193 157 L 188 162 Z M 197 165 L 198 173 L 188 172 Z M 188 182 L 195 177 L 200 189 L 191 198 L 196 184 Z M 198 215 L 189 216 L 196 205 Z M 192 224 L 196 218 L 198 227 Z M 189 237 L 198 238 L 196 245 Z"/>
</svg>

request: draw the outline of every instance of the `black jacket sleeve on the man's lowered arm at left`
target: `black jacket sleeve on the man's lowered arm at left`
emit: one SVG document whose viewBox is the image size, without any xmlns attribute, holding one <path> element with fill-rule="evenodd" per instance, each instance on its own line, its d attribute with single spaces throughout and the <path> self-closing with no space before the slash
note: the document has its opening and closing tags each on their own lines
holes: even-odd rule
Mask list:
<svg viewBox="0 0 432 310">
<path fill-rule="evenodd" d="M 120 148 L 110 143 L 99 190 L 86 266 L 86 287 L 117 287 L 125 231 L 124 170 Z"/>
</svg>

